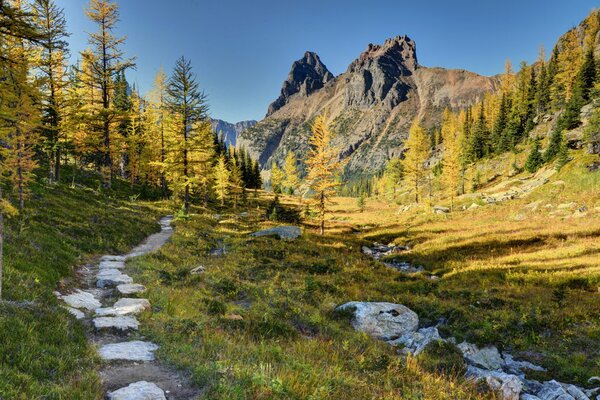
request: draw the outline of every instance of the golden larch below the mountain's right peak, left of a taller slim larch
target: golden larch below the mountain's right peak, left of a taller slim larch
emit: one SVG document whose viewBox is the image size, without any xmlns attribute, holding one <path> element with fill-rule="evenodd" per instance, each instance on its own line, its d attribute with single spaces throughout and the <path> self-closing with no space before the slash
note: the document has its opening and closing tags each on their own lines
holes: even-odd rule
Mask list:
<svg viewBox="0 0 600 400">
<path fill-rule="evenodd" d="M 415 192 L 415 202 L 419 202 L 420 186 L 425 178 L 425 160 L 429 155 L 429 137 L 419 124 L 418 118 L 408 131 L 408 139 L 404 144 L 406 151 L 402 161 L 404 180 Z"/>
</svg>

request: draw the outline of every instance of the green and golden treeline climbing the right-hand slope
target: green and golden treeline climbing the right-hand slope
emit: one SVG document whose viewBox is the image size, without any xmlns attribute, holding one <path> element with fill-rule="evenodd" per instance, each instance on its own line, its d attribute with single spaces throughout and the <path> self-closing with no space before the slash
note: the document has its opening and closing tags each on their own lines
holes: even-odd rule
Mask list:
<svg viewBox="0 0 600 400">
<path fill-rule="evenodd" d="M 353 194 L 395 197 L 399 190 L 410 191 L 419 202 L 443 192 L 453 202 L 466 187 L 476 189 L 478 175 L 467 178 L 476 162 L 530 146 L 522 166 L 535 172 L 545 163 L 560 168 L 569 160 L 564 131 L 581 124 L 581 108 L 600 97 L 600 62 L 594 43 L 600 28 L 600 13 L 594 10 L 582 24 L 573 28 L 554 47 L 546 60 L 543 49 L 533 65 L 522 62 L 514 73 L 509 61 L 499 88 L 466 109 L 443 114 L 437 129 L 426 131 L 415 121 L 409 131 L 402 159 L 391 159 L 372 183 L 360 182 Z M 554 118 L 545 148 L 540 138 L 530 138 L 537 124 Z M 433 157 L 441 153 L 441 157 Z M 432 162 L 432 160 L 439 162 Z M 467 179 L 469 181 L 467 181 Z"/>
</svg>

